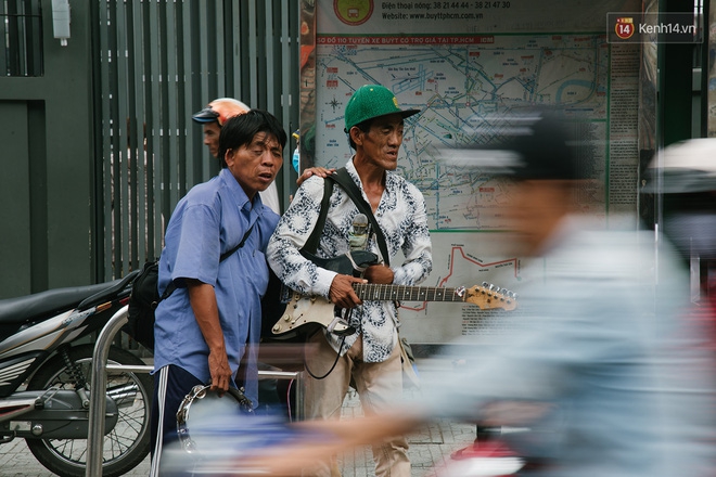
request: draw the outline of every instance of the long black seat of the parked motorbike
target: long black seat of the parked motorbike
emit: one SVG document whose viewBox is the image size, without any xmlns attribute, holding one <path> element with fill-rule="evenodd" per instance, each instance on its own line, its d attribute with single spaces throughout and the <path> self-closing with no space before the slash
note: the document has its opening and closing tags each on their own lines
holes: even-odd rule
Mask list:
<svg viewBox="0 0 716 477">
<path fill-rule="evenodd" d="M 20 324 L 53 317 L 77 307 L 84 299 L 114 284 L 115 282 L 54 288 L 0 300 L 0 324 Z"/>
</svg>

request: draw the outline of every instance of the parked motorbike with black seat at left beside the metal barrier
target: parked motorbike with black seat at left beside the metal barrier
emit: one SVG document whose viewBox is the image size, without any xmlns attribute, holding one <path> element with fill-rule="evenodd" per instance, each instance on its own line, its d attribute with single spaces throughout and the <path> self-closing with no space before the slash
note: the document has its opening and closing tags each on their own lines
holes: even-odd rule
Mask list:
<svg viewBox="0 0 716 477">
<path fill-rule="evenodd" d="M 94 349 L 86 336 L 127 304 L 136 274 L 0 300 L 0 444 L 23 438 L 49 470 L 85 476 Z M 108 362 L 144 364 L 114 346 Z M 101 392 L 106 395 L 102 472 L 120 476 L 149 453 L 153 381 L 112 371 Z"/>
</svg>

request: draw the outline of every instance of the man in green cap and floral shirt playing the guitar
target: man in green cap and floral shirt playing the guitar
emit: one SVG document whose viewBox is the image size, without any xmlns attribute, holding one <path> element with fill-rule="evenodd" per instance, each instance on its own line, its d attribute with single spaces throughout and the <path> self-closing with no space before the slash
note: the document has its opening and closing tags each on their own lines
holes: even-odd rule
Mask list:
<svg viewBox="0 0 716 477">
<path fill-rule="evenodd" d="M 394 94 L 380 85 L 359 88 L 345 111 L 345 131 L 356 154 L 346 169 L 370 204 L 393 259 L 402 250 L 405 262 L 369 267 L 365 279 L 371 283 L 414 285 L 432 269 L 431 240 L 423 195 L 413 184 L 393 171 L 398 165 L 404 119 L 419 113 L 401 109 Z M 322 269 L 304 258 L 299 249 L 312 232 L 323 197 L 321 177 L 307 179 L 269 241 L 269 265 L 281 281 L 305 295 L 320 295 L 342 308 L 353 309 L 350 324 L 357 332 L 338 338 L 317 333 L 308 339 L 317 346 L 306 359 L 312 373 L 306 377 L 306 417 L 337 418 L 350 379 L 361 398 L 363 411 L 381 412 L 402 391 L 400 347 L 397 336 L 397 307 L 393 301 L 361 301 L 353 285 L 363 282 L 351 275 Z M 350 250 L 351 223 L 358 209 L 336 185 L 317 256 L 332 258 Z M 366 248 L 380 256 L 374 235 Z M 340 359 L 336 362 L 336 353 Z M 333 363 L 334 369 L 324 377 Z M 410 476 L 408 443 L 397 436 L 373 448 L 376 476 Z M 323 468 L 322 474 L 328 475 Z"/>
</svg>

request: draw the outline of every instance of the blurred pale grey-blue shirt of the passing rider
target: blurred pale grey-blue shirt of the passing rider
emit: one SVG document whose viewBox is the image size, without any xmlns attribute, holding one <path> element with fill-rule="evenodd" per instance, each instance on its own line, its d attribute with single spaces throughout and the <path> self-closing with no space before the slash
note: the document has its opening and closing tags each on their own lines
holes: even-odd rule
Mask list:
<svg viewBox="0 0 716 477">
<path fill-rule="evenodd" d="M 713 469 L 713 358 L 685 320 L 688 276 L 666 252 L 659 269 L 654 257 L 652 234 L 564 223 L 534 263 L 544 280 L 517 291 L 514 334 L 473 343 L 468 366 L 426 384 L 430 412 L 474 421 L 490 401 L 551 404 L 513 446 L 554 465 L 525 475 Z"/>
</svg>

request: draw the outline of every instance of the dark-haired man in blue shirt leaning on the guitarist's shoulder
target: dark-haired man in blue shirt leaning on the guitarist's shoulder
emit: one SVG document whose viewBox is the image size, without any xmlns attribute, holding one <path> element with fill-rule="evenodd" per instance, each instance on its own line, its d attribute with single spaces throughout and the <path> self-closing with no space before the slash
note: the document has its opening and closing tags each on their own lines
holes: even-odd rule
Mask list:
<svg viewBox="0 0 716 477">
<path fill-rule="evenodd" d="M 258 193 L 281 169 L 286 139 L 267 112 L 228 119 L 219 136 L 221 171 L 192 188 L 171 215 L 158 289 L 177 288 L 156 309 L 152 475 L 163 447 L 177 439 L 176 413 L 193 386 L 210 383 L 212 390 L 226 391 L 236 386 L 242 363 L 244 392 L 257 403 L 255 345 L 269 278 L 264 252 L 279 220 Z"/>
</svg>

